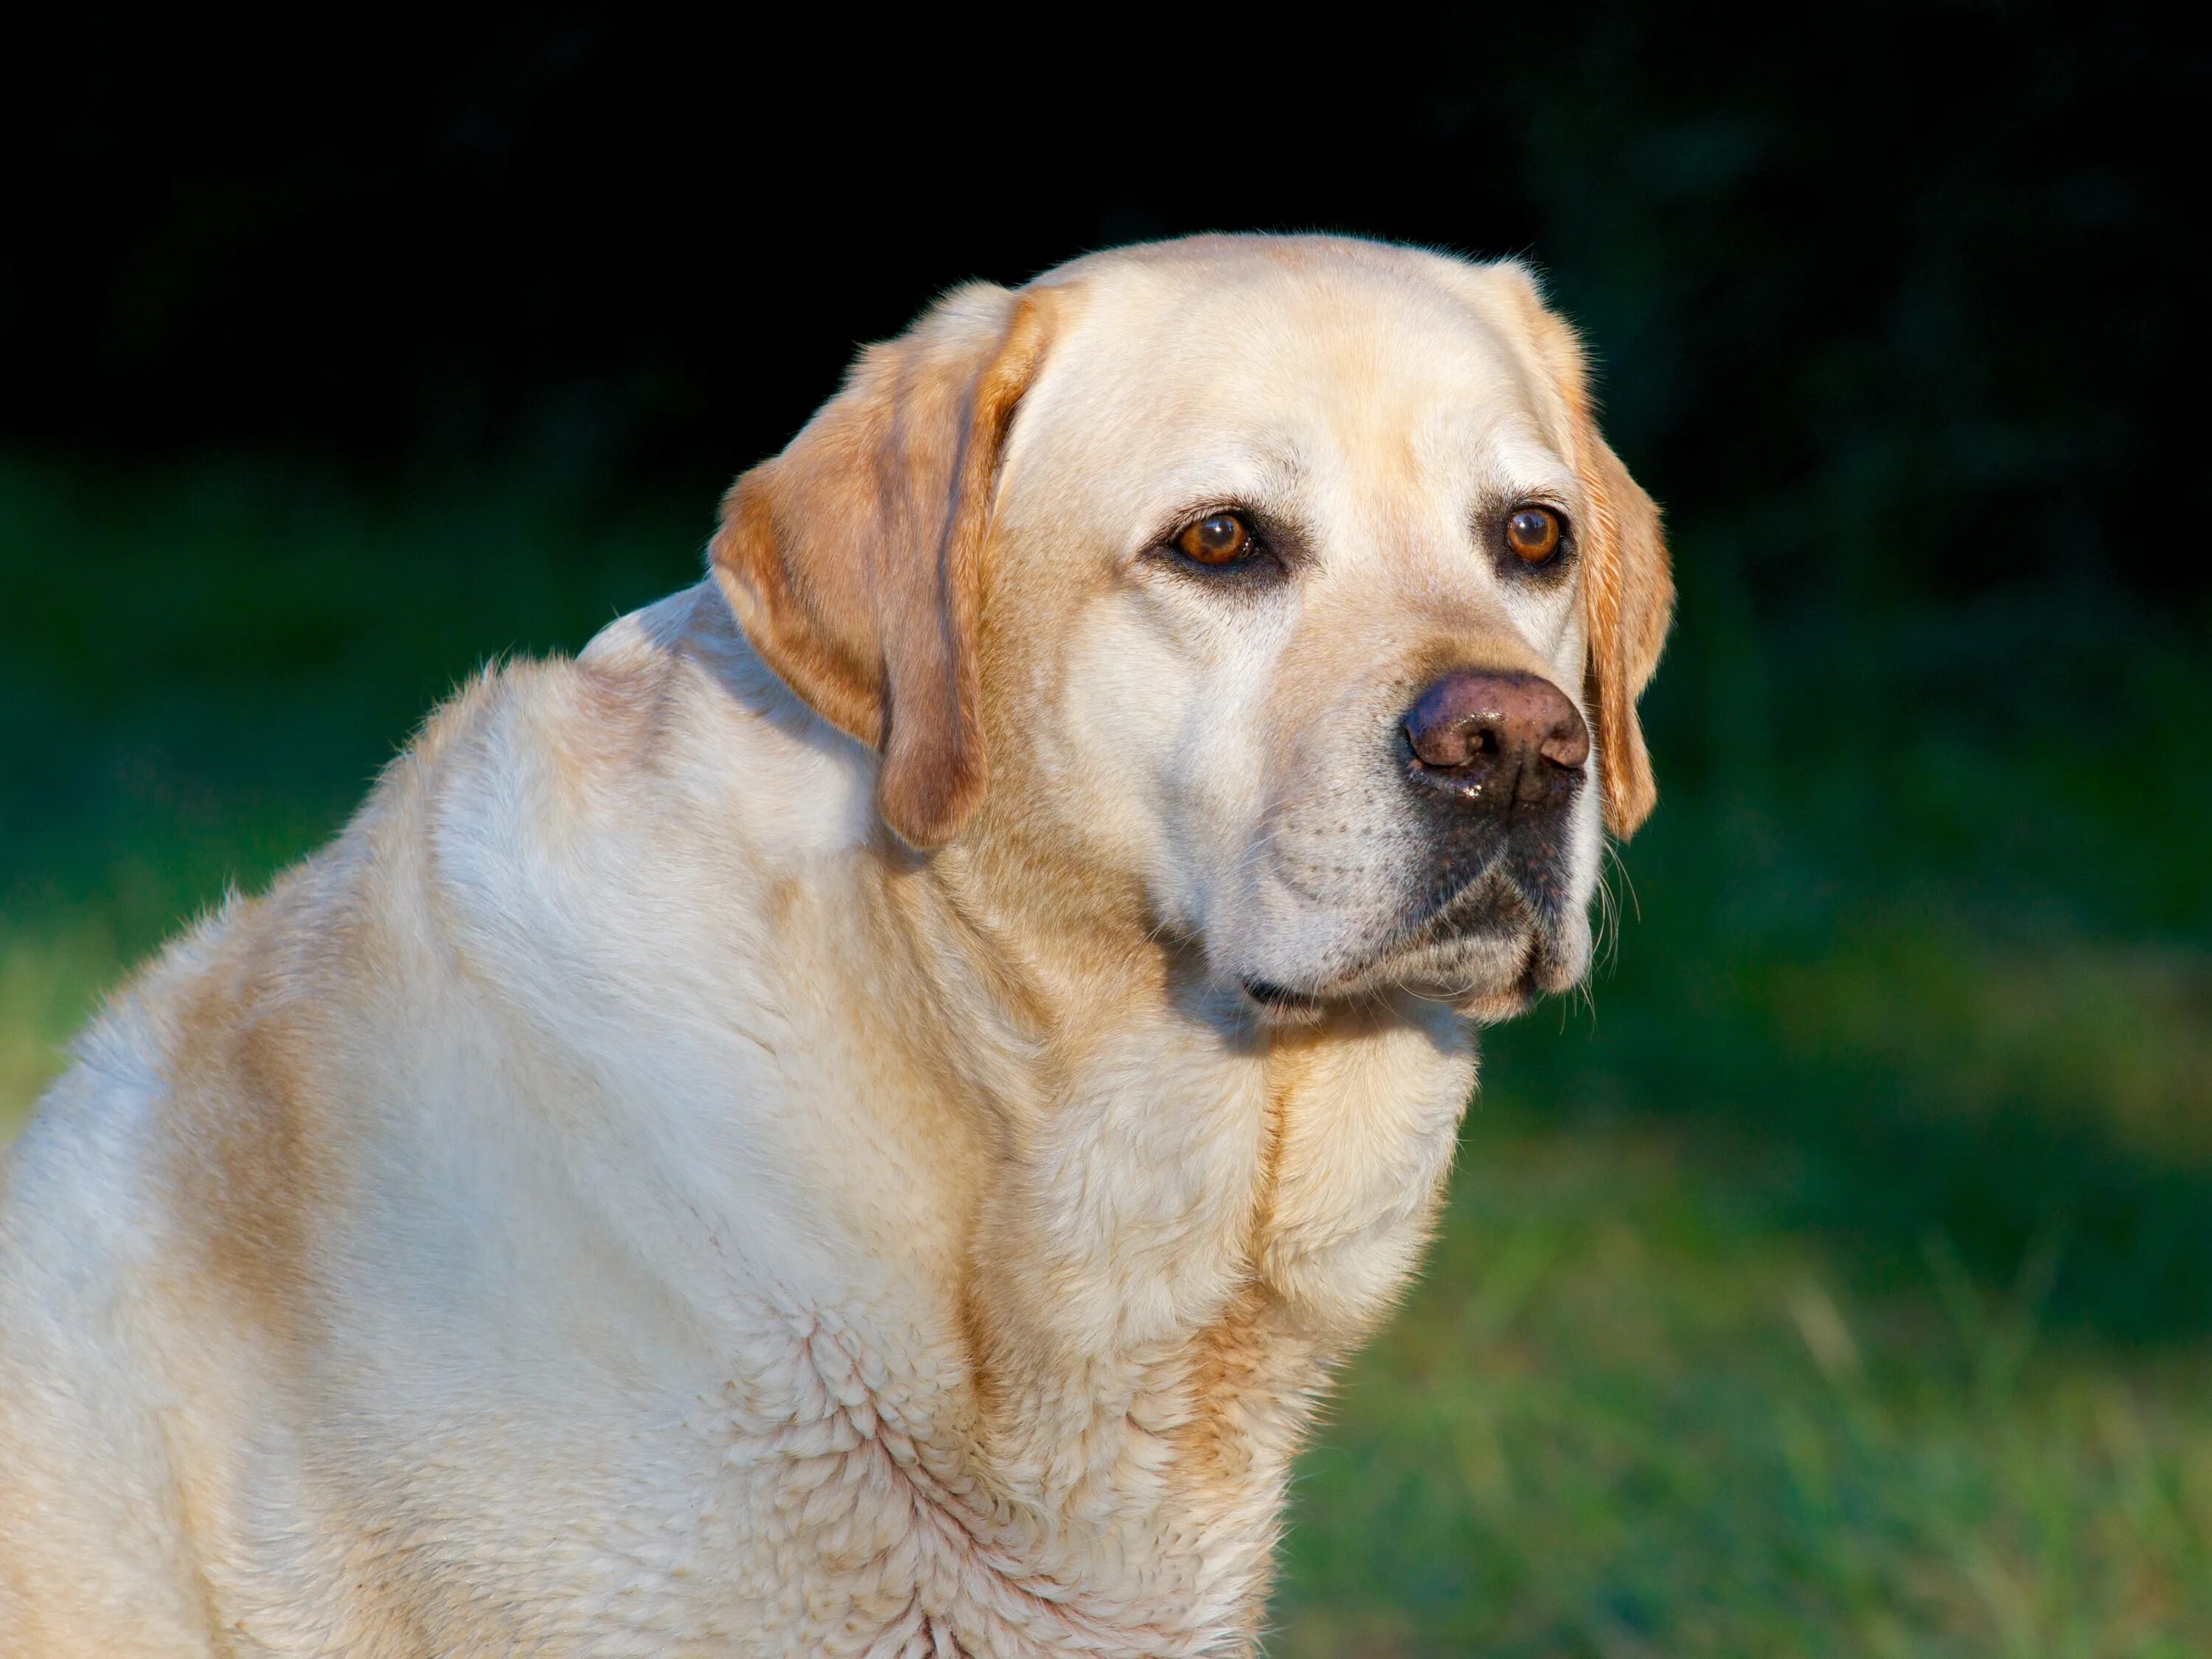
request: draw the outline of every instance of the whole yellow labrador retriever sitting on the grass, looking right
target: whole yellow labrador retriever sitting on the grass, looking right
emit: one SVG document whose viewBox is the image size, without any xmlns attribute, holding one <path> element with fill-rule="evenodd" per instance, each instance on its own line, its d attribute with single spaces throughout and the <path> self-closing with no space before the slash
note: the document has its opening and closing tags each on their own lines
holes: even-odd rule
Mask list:
<svg viewBox="0 0 2212 1659">
<path fill-rule="evenodd" d="M 1250 1652 L 1670 604 L 1517 265 L 947 296 L 82 1037 L 0 1652 Z"/>
</svg>

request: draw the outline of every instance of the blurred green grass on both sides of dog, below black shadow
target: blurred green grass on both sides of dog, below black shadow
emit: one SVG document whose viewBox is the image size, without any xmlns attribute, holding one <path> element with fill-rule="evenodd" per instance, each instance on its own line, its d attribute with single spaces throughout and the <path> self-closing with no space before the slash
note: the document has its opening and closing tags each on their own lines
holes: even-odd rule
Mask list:
<svg viewBox="0 0 2212 1659">
<path fill-rule="evenodd" d="M 131 962 L 478 661 L 690 580 L 706 507 L 0 462 L 0 1139 Z M 1274 1650 L 2208 1652 L 2205 617 L 1679 560 L 1617 960 L 1486 1044 Z"/>
</svg>

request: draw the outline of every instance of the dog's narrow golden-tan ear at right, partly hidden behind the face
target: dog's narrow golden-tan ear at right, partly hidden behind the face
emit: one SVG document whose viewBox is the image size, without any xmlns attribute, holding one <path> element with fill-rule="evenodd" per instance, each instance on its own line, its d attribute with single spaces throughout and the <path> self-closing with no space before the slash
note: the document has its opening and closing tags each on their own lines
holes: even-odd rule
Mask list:
<svg viewBox="0 0 2212 1659">
<path fill-rule="evenodd" d="M 1493 270 L 1506 279 L 1522 327 L 1566 405 L 1573 465 L 1588 500 L 1577 544 L 1606 830 L 1626 841 L 1659 803 L 1650 750 L 1644 748 L 1644 726 L 1637 721 L 1637 697 L 1659 666 L 1659 650 L 1674 619 L 1674 575 L 1659 531 L 1659 504 L 1628 476 L 1597 431 L 1582 341 L 1544 305 L 1524 265 L 1504 261 Z"/>
</svg>

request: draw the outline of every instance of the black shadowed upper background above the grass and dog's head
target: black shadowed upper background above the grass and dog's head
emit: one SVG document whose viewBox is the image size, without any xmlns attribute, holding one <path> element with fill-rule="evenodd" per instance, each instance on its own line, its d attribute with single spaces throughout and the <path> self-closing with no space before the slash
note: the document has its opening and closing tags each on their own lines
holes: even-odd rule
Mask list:
<svg viewBox="0 0 2212 1659">
<path fill-rule="evenodd" d="M 2201 595 L 2203 42 L 1787 11 L 73 11 L 9 75 L 0 436 L 706 498 L 956 281 L 1327 228 L 1533 257 L 1761 586 Z"/>
</svg>

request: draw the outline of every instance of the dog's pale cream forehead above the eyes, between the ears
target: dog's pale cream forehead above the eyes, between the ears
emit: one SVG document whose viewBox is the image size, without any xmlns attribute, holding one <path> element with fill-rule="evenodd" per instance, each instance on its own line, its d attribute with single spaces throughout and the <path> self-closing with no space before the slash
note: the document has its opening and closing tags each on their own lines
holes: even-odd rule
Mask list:
<svg viewBox="0 0 2212 1659">
<path fill-rule="evenodd" d="M 1553 389 L 1498 272 L 1327 239 L 1199 239 L 1077 261 L 1037 405 L 1093 456 L 1201 442 L 1318 462 L 1551 447 Z M 1298 453 L 1303 451 L 1303 453 Z"/>
</svg>

